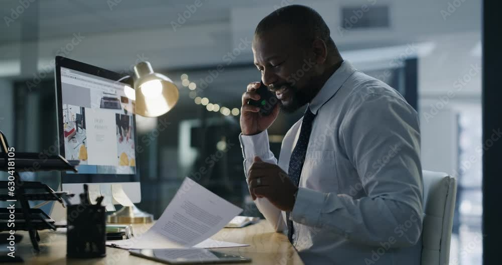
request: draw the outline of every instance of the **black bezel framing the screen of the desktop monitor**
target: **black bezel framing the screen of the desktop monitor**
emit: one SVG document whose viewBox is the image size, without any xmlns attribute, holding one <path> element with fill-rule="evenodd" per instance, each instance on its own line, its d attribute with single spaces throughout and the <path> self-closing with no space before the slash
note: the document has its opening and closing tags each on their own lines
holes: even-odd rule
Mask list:
<svg viewBox="0 0 502 265">
<path fill-rule="evenodd" d="M 94 65 L 72 60 L 70 58 L 56 56 L 55 60 L 55 80 L 56 80 L 56 102 L 57 102 L 57 125 L 58 125 L 58 143 L 59 143 L 59 153 L 65 157 L 64 150 L 64 132 L 63 126 L 60 122 L 63 121 L 63 99 L 62 99 L 62 87 L 61 87 L 61 67 L 68 68 L 71 70 L 91 74 L 94 76 L 106 78 L 109 80 L 119 80 L 124 85 L 130 85 L 133 87 L 133 78 L 125 78 L 129 75 L 120 74 L 114 71 L 103 69 Z M 137 151 L 138 135 L 136 130 L 136 117 L 133 114 L 133 133 L 135 140 L 135 156 L 136 156 L 136 173 L 135 174 L 80 174 L 80 173 L 68 173 L 66 171 L 61 172 L 61 183 L 62 184 L 78 184 L 78 183 L 128 183 L 128 182 L 140 182 L 140 161 Z M 78 166 L 77 166 L 78 169 Z"/>
</svg>

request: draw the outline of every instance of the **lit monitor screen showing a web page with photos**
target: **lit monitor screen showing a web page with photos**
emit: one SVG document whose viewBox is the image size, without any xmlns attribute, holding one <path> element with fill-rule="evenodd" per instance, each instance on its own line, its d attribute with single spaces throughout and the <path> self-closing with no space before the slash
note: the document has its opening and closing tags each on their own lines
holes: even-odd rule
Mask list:
<svg viewBox="0 0 502 265">
<path fill-rule="evenodd" d="M 78 174 L 136 174 L 135 104 L 126 85 L 65 67 L 60 77 L 62 155 L 80 161 Z"/>
</svg>

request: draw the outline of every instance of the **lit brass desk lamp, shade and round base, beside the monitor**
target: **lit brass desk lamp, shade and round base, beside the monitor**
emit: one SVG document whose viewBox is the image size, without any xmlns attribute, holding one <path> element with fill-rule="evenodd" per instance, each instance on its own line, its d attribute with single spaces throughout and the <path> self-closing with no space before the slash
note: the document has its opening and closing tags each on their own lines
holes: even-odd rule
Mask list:
<svg viewBox="0 0 502 265">
<path fill-rule="evenodd" d="M 150 62 L 134 66 L 136 80 L 134 91 L 127 89 L 126 96 L 136 101 L 135 113 L 144 117 L 158 117 L 170 111 L 178 102 L 178 87 L 169 77 L 156 73 Z M 124 76 L 127 78 L 130 76 Z M 108 216 L 108 223 L 151 223 L 153 215 L 138 209 L 134 204 Z"/>
</svg>

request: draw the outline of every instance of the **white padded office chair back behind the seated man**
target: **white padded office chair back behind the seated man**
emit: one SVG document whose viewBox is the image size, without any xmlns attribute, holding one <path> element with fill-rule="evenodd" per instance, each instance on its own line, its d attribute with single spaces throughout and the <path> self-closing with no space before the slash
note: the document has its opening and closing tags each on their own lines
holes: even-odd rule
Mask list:
<svg viewBox="0 0 502 265">
<path fill-rule="evenodd" d="M 423 171 L 424 224 L 422 265 L 445 265 L 450 259 L 450 239 L 457 185 L 447 173 Z"/>
</svg>

